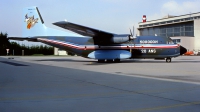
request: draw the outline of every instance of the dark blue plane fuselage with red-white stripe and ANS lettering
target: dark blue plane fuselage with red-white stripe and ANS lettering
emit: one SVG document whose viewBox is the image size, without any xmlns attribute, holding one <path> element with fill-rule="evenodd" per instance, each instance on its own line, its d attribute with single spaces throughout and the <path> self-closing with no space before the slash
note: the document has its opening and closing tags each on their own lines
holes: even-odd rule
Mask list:
<svg viewBox="0 0 200 112">
<path fill-rule="evenodd" d="M 138 36 L 122 44 L 95 45 L 92 37 L 40 37 L 38 41 L 75 53 L 85 58 L 94 51 L 122 50 L 131 52 L 130 58 L 167 58 L 183 54 L 184 49 L 171 39 L 157 36 Z"/>
</svg>

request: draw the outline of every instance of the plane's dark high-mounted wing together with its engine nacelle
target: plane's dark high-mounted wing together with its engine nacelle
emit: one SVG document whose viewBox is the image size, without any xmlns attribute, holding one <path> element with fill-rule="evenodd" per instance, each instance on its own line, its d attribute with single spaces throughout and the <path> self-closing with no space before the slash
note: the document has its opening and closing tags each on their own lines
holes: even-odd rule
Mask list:
<svg viewBox="0 0 200 112">
<path fill-rule="evenodd" d="M 117 35 L 67 21 L 60 21 L 53 24 L 83 36 L 93 37 L 94 44 L 96 45 L 119 44 L 130 40 L 129 34 Z"/>
</svg>

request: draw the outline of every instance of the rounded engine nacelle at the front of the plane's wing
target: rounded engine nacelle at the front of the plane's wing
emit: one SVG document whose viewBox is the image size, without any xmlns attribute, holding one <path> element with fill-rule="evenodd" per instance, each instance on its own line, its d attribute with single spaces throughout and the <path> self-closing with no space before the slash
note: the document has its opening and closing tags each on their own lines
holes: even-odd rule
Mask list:
<svg viewBox="0 0 200 112">
<path fill-rule="evenodd" d="M 114 44 L 120 44 L 130 41 L 129 35 L 115 35 L 111 38 L 111 42 Z"/>
</svg>

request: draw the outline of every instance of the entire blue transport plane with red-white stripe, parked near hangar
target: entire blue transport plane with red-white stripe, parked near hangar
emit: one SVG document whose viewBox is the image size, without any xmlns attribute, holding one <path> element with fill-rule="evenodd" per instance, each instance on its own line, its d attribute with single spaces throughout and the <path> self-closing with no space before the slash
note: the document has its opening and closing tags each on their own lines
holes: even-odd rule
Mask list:
<svg viewBox="0 0 200 112">
<path fill-rule="evenodd" d="M 22 22 L 23 37 L 9 39 L 42 42 L 98 62 L 120 62 L 121 59 L 136 58 L 165 59 L 171 62 L 171 58 L 186 52 L 183 46 L 174 44 L 170 38 L 134 36 L 131 29 L 130 34 L 114 34 L 68 21 L 53 24 L 72 32 L 48 28 L 35 6 L 23 10 Z"/>
</svg>

